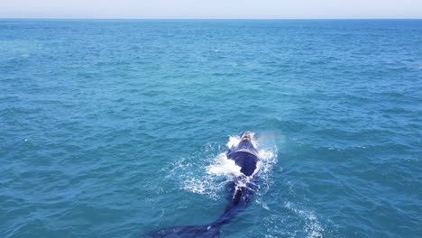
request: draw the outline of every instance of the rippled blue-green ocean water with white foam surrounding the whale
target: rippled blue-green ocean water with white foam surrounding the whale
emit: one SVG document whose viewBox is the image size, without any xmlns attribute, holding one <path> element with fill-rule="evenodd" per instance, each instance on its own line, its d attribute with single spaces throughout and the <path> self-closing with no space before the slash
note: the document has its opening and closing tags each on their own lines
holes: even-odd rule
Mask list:
<svg viewBox="0 0 422 238">
<path fill-rule="evenodd" d="M 422 21 L 0 20 L 0 237 L 420 237 Z"/>
</svg>

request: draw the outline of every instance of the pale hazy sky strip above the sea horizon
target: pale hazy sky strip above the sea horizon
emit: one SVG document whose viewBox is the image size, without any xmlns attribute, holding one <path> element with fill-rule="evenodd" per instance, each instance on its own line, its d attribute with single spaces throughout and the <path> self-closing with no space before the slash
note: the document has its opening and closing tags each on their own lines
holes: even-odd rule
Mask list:
<svg viewBox="0 0 422 238">
<path fill-rule="evenodd" d="M 0 0 L 0 18 L 422 18 L 422 0 Z"/>
</svg>

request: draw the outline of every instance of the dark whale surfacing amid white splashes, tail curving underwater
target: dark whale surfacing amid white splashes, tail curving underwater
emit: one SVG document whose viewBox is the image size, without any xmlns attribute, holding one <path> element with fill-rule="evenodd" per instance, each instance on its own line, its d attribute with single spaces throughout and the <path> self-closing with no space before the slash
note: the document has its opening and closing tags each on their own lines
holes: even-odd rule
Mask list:
<svg viewBox="0 0 422 238">
<path fill-rule="evenodd" d="M 216 220 L 209 224 L 174 226 L 144 233 L 142 237 L 153 238 L 216 238 L 221 235 L 221 228 L 229 224 L 251 202 L 257 190 L 256 180 L 260 158 L 258 156 L 255 133 L 250 131 L 239 135 L 240 142 L 225 152 L 227 159 L 234 160 L 240 167 L 240 174 L 230 180 L 227 190 L 227 205 L 225 211 Z"/>
</svg>

